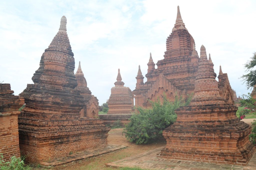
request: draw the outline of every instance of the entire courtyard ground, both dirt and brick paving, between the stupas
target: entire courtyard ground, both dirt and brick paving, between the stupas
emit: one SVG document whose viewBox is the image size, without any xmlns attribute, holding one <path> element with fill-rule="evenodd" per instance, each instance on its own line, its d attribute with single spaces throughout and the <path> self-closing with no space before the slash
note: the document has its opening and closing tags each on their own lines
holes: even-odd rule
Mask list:
<svg viewBox="0 0 256 170">
<path fill-rule="evenodd" d="M 243 119 L 246 123 L 251 125 L 253 119 Z M 140 144 L 129 142 L 125 135 L 122 135 L 123 128 L 111 129 L 109 131 L 108 144 L 110 145 L 124 145 L 126 148 L 102 154 L 99 156 L 92 156 L 87 159 L 80 161 L 73 161 L 65 165 L 58 165 L 55 167 L 41 167 L 36 166 L 33 169 L 36 170 L 69 170 L 69 169 L 119 169 L 122 167 L 136 167 L 141 169 L 213 169 L 213 170 L 242 170 L 242 169 L 256 169 L 256 154 L 252 157 L 247 166 L 238 165 L 225 165 L 225 164 L 211 164 L 203 162 L 189 162 L 189 161 L 178 161 L 178 160 L 166 160 L 157 158 L 157 154 L 166 145 L 165 140 L 160 140 L 151 144 Z M 74 156 L 74 155 L 70 155 Z M 81 156 L 81 155 L 80 155 Z"/>
</svg>

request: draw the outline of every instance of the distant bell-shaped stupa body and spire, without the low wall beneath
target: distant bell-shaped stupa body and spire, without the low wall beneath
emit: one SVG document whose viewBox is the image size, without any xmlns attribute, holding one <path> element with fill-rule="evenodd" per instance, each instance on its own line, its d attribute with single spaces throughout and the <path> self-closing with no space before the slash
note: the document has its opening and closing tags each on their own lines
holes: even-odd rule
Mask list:
<svg viewBox="0 0 256 170">
<path fill-rule="evenodd" d="M 133 94 L 129 87 L 124 87 L 120 69 L 116 78 L 115 87 L 111 88 L 108 100 L 108 114 L 131 114 L 133 111 Z"/>
</svg>

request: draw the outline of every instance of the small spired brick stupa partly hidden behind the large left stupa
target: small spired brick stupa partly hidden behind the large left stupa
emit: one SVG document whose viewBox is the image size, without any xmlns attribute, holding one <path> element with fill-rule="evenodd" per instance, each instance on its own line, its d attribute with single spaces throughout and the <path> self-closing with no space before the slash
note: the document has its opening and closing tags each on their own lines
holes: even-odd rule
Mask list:
<svg viewBox="0 0 256 170">
<path fill-rule="evenodd" d="M 92 95 L 90 89 L 87 87 L 87 81 L 84 78 L 83 71 L 81 69 L 81 64 L 76 72 L 77 87 L 75 89 L 80 91 L 80 94 L 84 96 L 85 103 L 83 109 L 80 111 L 81 117 L 95 118 L 99 115 L 99 100 Z"/>
</svg>

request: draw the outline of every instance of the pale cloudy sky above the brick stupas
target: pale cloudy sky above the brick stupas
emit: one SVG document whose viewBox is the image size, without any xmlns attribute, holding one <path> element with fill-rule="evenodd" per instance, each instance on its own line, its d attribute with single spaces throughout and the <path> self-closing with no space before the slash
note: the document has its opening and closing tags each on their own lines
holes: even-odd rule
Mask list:
<svg viewBox="0 0 256 170">
<path fill-rule="evenodd" d="M 120 68 L 124 86 L 135 89 L 138 65 L 147 73 L 152 53 L 163 59 L 166 38 L 180 7 L 196 50 L 206 47 L 215 72 L 227 73 L 237 96 L 251 92 L 239 79 L 256 52 L 256 1 L 1 1 L 0 81 L 18 95 L 33 83 L 42 53 L 67 17 L 76 62 L 100 105 L 109 99 Z M 146 78 L 144 78 L 144 82 Z"/>
</svg>

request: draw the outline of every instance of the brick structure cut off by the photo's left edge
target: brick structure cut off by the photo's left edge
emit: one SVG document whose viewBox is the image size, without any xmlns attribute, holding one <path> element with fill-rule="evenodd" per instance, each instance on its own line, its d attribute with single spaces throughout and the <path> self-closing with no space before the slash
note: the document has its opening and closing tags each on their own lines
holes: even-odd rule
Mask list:
<svg viewBox="0 0 256 170">
<path fill-rule="evenodd" d="M 0 83 L 0 153 L 5 162 L 10 161 L 12 156 L 20 157 L 18 110 L 24 104 L 24 99 L 13 93 L 10 84 Z"/>
</svg>

